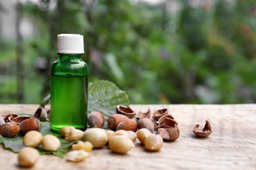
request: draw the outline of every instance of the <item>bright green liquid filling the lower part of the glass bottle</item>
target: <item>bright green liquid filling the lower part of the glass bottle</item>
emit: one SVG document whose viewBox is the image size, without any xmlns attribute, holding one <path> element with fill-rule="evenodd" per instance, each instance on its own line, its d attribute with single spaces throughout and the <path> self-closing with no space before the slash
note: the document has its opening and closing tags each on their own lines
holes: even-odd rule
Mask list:
<svg viewBox="0 0 256 170">
<path fill-rule="evenodd" d="M 51 130 L 87 127 L 88 76 L 51 76 Z"/>
</svg>

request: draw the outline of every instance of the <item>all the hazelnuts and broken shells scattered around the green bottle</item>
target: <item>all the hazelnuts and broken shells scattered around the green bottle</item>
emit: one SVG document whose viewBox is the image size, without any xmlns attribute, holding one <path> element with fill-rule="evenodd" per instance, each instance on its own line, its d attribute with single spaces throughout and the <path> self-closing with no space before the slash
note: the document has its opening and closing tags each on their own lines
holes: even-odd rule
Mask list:
<svg viewBox="0 0 256 170">
<path fill-rule="evenodd" d="M 42 136 L 41 121 L 47 120 L 47 112 L 39 107 L 33 118 L 30 116 L 18 116 L 7 114 L 0 116 L 0 135 L 3 137 L 15 137 L 19 132 L 24 135 L 24 148 L 18 153 L 18 163 L 22 167 L 31 167 L 39 160 L 38 146 L 43 150 L 56 151 L 60 148 L 60 141 L 54 135 Z M 151 115 L 150 108 L 147 112 L 135 113 L 130 107 L 118 105 L 116 114 L 107 119 L 109 129 L 104 127 L 105 118 L 100 112 L 91 112 L 88 124 L 91 128 L 86 131 L 67 126 L 60 129 L 60 135 L 72 144 L 71 151 L 66 154 L 67 161 L 82 161 L 89 156 L 93 148 L 108 148 L 117 154 L 125 154 L 135 148 L 135 141 L 139 139 L 146 150 L 158 151 L 163 146 L 163 139 L 175 141 L 180 132 L 178 123 L 167 109 L 156 110 Z M 193 131 L 199 137 L 207 137 L 211 134 L 211 126 L 206 120 L 203 129 L 199 125 L 193 127 Z"/>
</svg>

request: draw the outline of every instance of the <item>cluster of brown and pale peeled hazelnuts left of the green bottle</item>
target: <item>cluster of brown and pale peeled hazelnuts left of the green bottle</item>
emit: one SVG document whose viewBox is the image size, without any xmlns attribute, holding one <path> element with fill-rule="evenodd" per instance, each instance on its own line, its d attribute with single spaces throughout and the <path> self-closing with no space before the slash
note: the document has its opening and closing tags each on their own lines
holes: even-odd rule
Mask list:
<svg viewBox="0 0 256 170">
<path fill-rule="evenodd" d="M 56 151 L 60 148 L 60 140 L 54 135 L 43 136 L 41 121 L 47 120 L 47 111 L 39 107 L 33 117 L 18 114 L 5 114 L 0 116 L 0 135 L 3 137 L 15 137 L 18 133 L 24 135 L 22 142 L 24 148 L 18 152 L 18 163 L 22 167 L 31 167 L 39 160 L 39 152 L 36 149 L 41 145 L 45 151 Z"/>
</svg>

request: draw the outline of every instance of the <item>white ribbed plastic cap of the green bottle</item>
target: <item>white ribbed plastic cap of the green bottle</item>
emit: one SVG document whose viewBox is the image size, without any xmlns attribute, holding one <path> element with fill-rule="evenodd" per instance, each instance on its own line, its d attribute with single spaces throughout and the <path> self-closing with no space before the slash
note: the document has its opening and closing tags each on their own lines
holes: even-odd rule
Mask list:
<svg viewBox="0 0 256 170">
<path fill-rule="evenodd" d="M 83 35 L 59 34 L 57 36 L 57 53 L 59 54 L 82 54 Z"/>
</svg>

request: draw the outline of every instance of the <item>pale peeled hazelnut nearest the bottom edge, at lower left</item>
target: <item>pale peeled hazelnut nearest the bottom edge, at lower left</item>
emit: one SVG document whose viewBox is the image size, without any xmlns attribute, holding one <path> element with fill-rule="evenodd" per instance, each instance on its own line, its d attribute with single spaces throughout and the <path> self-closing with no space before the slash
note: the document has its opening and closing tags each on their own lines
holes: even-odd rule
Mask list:
<svg viewBox="0 0 256 170">
<path fill-rule="evenodd" d="M 32 167 L 39 159 L 39 152 L 35 148 L 25 147 L 18 152 L 18 164 L 22 167 Z"/>
</svg>

